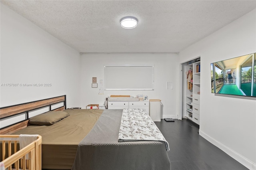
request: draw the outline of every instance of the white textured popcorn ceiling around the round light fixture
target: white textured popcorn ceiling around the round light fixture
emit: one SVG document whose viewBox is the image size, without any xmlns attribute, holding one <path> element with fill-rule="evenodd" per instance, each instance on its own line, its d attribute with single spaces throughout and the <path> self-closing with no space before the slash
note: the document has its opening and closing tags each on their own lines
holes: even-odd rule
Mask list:
<svg viewBox="0 0 256 170">
<path fill-rule="evenodd" d="M 179 52 L 256 8 L 256 0 L 1 0 L 79 52 Z M 125 16 L 134 29 L 120 27 Z"/>
</svg>

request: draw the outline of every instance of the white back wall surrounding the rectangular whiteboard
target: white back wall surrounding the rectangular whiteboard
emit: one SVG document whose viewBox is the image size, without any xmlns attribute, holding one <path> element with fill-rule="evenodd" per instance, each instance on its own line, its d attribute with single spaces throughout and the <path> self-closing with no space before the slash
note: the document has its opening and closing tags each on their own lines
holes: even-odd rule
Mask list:
<svg viewBox="0 0 256 170">
<path fill-rule="evenodd" d="M 154 64 L 154 90 L 145 91 L 104 91 L 98 94 L 98 88 L 91 88 L 92 77 L 104 80 L 104 64 Z M 81 103 L 104 104 L 110 95 L 147 95 L 149 99 L 162 100 L 162 117 L 177 118 L 178 110 L 178 54 L 160 53 L 95 53 L 81 55 Z M 166 89 L 166 82 L 173 82 L 173 89 Z M 138 82 L 140 83 L 140 82 Z"/>
</svg>

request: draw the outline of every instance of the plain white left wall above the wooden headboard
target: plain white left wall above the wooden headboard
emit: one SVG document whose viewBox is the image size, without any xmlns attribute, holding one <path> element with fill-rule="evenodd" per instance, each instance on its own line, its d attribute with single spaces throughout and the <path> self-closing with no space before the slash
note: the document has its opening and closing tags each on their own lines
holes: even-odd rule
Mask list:
<svg viewBox="0 0 256 170">
<path fill-rule="evenodd" d="M 1 4 L 0 106 L 67 95 L 67 107 L 80 105 L 80 54 Z M 23 87 L 20 83 L 51 83 Z"/>
</svg>

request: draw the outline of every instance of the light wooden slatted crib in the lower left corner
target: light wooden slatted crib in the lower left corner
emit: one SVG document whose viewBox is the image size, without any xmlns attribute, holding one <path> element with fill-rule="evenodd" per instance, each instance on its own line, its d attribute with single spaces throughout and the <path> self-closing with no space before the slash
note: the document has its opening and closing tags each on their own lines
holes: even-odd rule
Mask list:
<svg viewBox="0 0 256 170">
<path fill-rule="evenodd" d="M 19 149 L 19 142 L 21 138 L 29 139 L 31 136 L 28 135 L 0 135 L 1 141 L 1 168 L 12 168 L 19 170 L 28 169 L 28 170 L 41 170 L 41 161 L 42 161 L 42 137 L 36 135 L 36 140 L 29 142 L 22 149 Z M 34 136 L 32 136 L 34 137 Z M 27 156 L 27 158 L 26 158 Z"/>
</svg>

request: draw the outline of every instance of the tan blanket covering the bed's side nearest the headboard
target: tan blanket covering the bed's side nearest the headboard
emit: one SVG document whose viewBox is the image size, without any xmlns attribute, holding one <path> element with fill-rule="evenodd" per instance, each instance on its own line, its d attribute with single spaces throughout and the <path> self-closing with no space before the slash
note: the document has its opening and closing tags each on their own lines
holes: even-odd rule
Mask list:
<svg viewBox="0 0 256 170">
<path fill-rule="evenodd" d="M 80 141 L 90 132 L 104 110 L 66 109 L 70 116 L 50 126 L 30 125 L 14 134 L 42 136 L 42 168 L 71 169 Z"/>
</svg>

